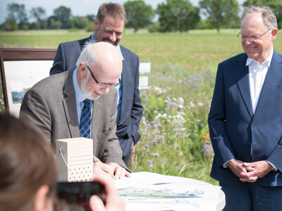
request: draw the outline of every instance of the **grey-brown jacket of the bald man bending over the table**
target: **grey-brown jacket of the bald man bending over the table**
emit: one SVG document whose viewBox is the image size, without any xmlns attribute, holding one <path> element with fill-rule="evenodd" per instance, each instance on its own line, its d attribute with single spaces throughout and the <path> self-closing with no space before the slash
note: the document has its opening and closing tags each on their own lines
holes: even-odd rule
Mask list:
<svg viewBox="0 0 282 211">
<path fill-rule="evenodd" d="M 80 137 L 73 71 L 42 79 L 27 91 L 20 107 L 20 117 L 27 113 L 54 146 L 56 139 Z M 93 153 L 102 162 L 116 162 L 128 170 L 116 136 L 116 101 L 116 89 L 93 101 Z"/>
</svg>

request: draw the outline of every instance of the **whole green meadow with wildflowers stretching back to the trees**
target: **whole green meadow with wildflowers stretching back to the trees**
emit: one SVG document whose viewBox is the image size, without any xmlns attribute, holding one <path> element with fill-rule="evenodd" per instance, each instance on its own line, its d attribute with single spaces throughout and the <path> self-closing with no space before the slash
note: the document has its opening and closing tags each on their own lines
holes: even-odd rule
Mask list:
<svg viewBox="0 0 282 211">
<path fill-rule="evenodd" d="M 209 177 L 213 151 L 207 115 L 218 63 L 243 49 L 239 29 L 136 34 L 126 29 L 121 44 L 150 62 L 150 88 L 140 90 L 144 114 L 141 139 L 130 162 L 132 172 L 156 172 L 218 185 Z M 89 37 L 82 30 L 0 32 L 0 47 L 56 48 Z M 282 53 L 282 39 L 274 41 Z M 0 99 L 3 103 L 3 99 Z"/>
</svg>

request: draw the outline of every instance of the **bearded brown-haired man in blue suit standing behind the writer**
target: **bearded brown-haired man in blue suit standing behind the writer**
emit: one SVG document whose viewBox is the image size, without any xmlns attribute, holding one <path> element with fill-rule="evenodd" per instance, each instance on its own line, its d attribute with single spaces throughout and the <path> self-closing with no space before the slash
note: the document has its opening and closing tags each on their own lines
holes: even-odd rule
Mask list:
<svg viewBox="0 0 282 211">
<path fill-rule="evenodd" d="M 114 3 L 102 4 L 94 20 L 94 33 L 90 37 L 59 44 L 50 75 L 74 68 L 87 41 L 107 41 L 116 46 L 123 59 L 121 85 L 116 87 L 118 90 L 116 136 L 121 144 L 123 160 L 127 163 L 133 146 L 140 139 L 138 129 L 143 107 L 138 88 L 139 58 L 135 53 L 118 44 L 125 23 L 126 13 L 123 6 Z"/>
</svg>

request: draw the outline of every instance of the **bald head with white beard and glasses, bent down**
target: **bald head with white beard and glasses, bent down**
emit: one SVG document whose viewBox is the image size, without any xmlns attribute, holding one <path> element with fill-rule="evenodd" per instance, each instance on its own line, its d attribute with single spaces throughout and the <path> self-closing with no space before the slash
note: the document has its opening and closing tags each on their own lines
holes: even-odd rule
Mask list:
<svg viewBox="0 0 282 211">
<path fill-rule="evenodd" d="M 115 46 L 104 41 L 87 43 L 76 65 L 78 86 L 91 100 L 108 94 L 118 82 L 123 68 L 121 54 Z"/>
</svg>

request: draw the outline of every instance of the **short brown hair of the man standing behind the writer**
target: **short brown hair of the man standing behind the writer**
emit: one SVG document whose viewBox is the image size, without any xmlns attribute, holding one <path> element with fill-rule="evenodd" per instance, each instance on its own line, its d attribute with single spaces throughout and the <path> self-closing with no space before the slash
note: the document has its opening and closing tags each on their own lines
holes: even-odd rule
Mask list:
<svg viewBox="0 0 282 211">
<path fill-rule="evenodd" d="M 114 18 L 114 20 L 124 21 L 126 23 L 126 12 L 121 4 L 117 3 L 104 3 L 99 7 L 97 13 L 97 19 L 99 20 L 99 24 L 104 22 L 104 18 L 106 16 L 110 16 Z"/>
</svg>

